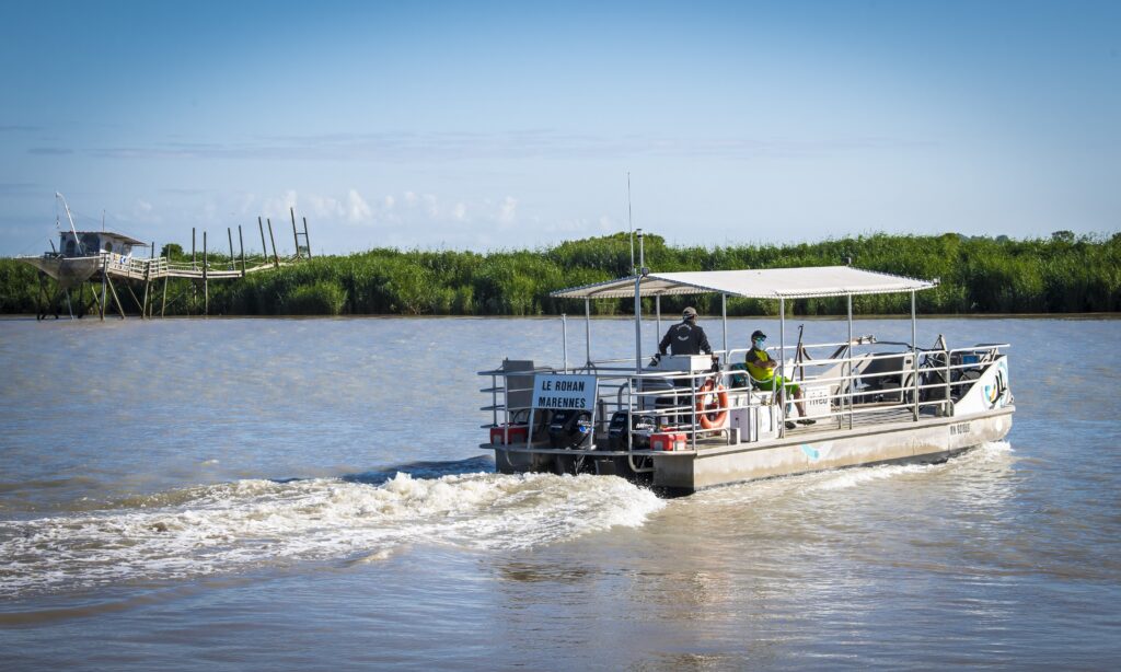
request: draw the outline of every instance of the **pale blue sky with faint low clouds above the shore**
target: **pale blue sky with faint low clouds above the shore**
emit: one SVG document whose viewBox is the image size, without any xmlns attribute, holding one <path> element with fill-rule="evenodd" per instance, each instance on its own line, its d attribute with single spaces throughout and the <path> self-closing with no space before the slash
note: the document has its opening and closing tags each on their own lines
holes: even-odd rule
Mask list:
<svg viewBox="0 0 1121 672">
<path fill-rule="evenodd" d="M 0 92 L 0 255 L 1121 228 L 1113 1 L 7 0 Z"/>
</svg>

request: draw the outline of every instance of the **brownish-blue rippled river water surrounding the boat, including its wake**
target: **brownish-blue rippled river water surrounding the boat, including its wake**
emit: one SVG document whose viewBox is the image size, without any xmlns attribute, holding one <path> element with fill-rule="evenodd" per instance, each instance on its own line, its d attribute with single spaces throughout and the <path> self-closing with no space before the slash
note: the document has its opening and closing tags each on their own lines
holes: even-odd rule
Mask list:
<svg viewBox="0 0 1121 672">
<path fill-rule="evenodd" d="M 1117 669 L 1121 320 L 939 333 L 1012 344 L 1007 441 L 659 500 L 478 447 L 558 319 L 2 320 L 0 669 Z"/>
</svg>

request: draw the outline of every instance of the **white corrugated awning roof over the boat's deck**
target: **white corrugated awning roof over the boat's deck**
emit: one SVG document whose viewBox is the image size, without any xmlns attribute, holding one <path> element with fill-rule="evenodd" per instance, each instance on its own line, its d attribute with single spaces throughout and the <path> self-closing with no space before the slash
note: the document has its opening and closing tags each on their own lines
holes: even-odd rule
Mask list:
<svg viewBox="0 0 1121 672">
<path fill-rule="evenodd" d="M 852 267 L 760 269 L 754 271 L 686 271 L 650 273 L 642 279 L 643 297 L 725 293 L 750 299 L 808 299 L 918 291 L 937 282 L 864 271 Z M 554 291 L 568 299 L 618 299 L 634 296 L 634 277 Z"/>
</svg>

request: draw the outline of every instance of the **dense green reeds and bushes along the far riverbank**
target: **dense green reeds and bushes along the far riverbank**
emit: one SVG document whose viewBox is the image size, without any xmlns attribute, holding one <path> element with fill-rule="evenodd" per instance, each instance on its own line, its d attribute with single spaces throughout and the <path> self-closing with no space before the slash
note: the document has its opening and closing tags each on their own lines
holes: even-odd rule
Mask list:
<svg viewBox="0 0 1121 672">
<path fill-rule="evenodd" d="M 169 245 L 182 261 L 178 245 Z M 498 251 L 376 249 L 254 273 L 243 280 L 210 283 L 211 315 L 553 315 L 582 312 L 583 302 L 554 299 L 550 291 L 630 273 L 626 233 L 569 241 L 553 248 Z M 919 292 L 923 314 L 1121 311 L 1121 233 L 1109 237 L 1056 232 L 1050 239 L 1010 240 L 873 234 L 791 245 L 677 248 L 646 236 L 646 263 L 657 271 L 762 269 L 799 265 L 853 265 L 939 280 Z M 189 255 L 186 258 L 189 261 Z M 230 260 L 211 255 L 211 264 Z M 161 289 L 161 288 L 160 288 Z M 0 312 L 36 311 L 36 271 L 0 259 Z M 197 295 L 197 300 L 194 300 Z M 198 314 L 201 288 L 173 280 L 169 315 Z M 122 297 L 123 298 L 123 297 Z M 127 299 L 126 299 L 127 301 Z M 719 312 L 720 298 L 666 297 L 663 311 L 686 304 Z M 652 302 L 651 302 L 652 306 Z M 858 314 L 909 310 L 907 296 L 854 299 Z M 626 314 L 632 301 L 593 301 L 597 315 Z M 768 315 L 772 301 L 729 299 L 730 315 Z M 842 299 L 793 302 L 800 315 L 836 315 Z"/>
</svg>

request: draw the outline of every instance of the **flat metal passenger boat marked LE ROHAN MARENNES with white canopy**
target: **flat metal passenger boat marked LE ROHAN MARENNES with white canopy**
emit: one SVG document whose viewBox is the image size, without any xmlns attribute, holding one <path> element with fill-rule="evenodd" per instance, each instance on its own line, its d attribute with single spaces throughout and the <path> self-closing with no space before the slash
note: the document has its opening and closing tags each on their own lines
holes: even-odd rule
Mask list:
<svg viewBox="0 0 1121 672">
<path fill-rule="evenodd" d="M 552 292 L 584 301 L 585 361 L 543 365 L 503 360 L 479 372 L 498 472 L 621 476 L 670 495 L 733 483 L 883 463 L 937 463 L 1004 438 L 1016 411 L 1007 343 L 951 348 L 945 335 L 917 344 L 916 295 L 937 280 L 851 265 L 689 271 L 632 276 Z M 642 302 L 720 295 L 723 347 L 713 355 L 643 353 Z M 853 297 L 910 295 L 911 338 L 853 334 Z M 728 299 L 775 301 L 777 373 L 796 382 L 805 414 L 781 391 L 742 371 L 749 348 L 728 339 Z M 804 343 L 787 326 L 794 300 L 836 297 L 847 306 L 847 338 Z M 593 358 L 591 301 L 633 298 L 634 353 Z M 566 320 L 562 320 L 566 325 Z M 813 420 L 813 423 L 806 421 Z M 799 423 L 796 421 L 803 421 Z"/>
</svg>

